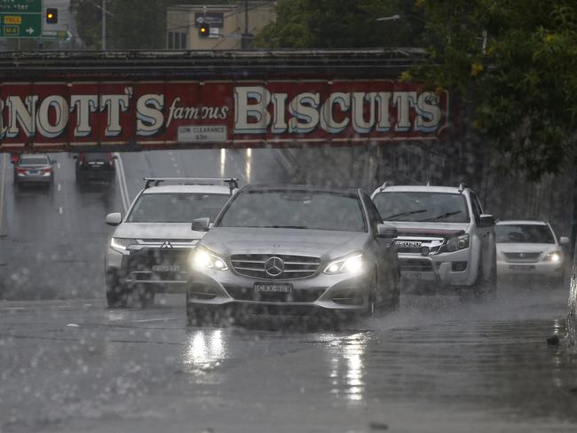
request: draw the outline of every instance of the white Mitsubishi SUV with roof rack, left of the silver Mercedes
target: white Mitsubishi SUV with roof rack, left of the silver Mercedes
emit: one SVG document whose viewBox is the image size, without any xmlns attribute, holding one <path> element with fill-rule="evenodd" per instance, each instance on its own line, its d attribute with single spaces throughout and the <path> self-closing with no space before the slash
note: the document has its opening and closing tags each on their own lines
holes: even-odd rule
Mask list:
<svg viewBox="0 0 577 433">
<path fill-rule="evenodd" d="M 188 256 L 205 234 L 192 230 L 193 220 L 214 221 L 238 189 L 234 178 L 144 180 L 126 217 L 107 215 L 107 224 L 117 226 L 105 258 L 109 307 L 126 306 L 135 290 L 143 304 L 152 303 L 156 292 L 185 293 Z M 160 185 L 170 182 L 180 185 Z"/>
</svg>

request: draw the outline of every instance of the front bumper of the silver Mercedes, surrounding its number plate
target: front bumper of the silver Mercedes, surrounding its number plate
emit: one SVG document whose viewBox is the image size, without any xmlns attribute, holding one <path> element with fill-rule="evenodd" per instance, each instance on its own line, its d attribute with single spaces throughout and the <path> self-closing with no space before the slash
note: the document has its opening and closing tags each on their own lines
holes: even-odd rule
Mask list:
<svg viewBox="0 0 577 433">
<path fill-rule="evenodd" d="M 255 283 L 292 285 L 288 293 L 256 292 Z M 233 272 L 194 270 L 188 302 L 197 305 L 269 305 L 276 307 L 320 307 L 332 311 L 366 311 L 368 278 L 365 274 L 327 275 L 317 272 L 305 279 L 256 279 Z"/>
</svg>

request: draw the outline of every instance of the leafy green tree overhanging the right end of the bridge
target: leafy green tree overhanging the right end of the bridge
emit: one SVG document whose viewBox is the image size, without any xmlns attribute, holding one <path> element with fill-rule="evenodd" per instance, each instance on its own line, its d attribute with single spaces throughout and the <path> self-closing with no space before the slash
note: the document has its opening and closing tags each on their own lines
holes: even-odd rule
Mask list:
<svg viewBox="0 0 577 433">
<path fill-rule="evenodd" d="M 503 164 L 557 173 L 575 147 L 575 0 L 419 0 L 431 63 L 412 71 L 457 91 Z M 484 47 L 484 32 L 486 45 Z"/>
</svg>

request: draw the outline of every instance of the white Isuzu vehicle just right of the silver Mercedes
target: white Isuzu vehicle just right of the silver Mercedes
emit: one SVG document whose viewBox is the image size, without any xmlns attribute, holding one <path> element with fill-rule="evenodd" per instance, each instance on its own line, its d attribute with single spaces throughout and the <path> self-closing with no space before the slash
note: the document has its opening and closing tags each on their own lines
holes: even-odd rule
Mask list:
<svg viewBox="0 0 577 433">
<path fill-rule="evenodd" d="M 383 222 L 399 232 L 405 285 L 496 295 L 494 217 L 483 213 L 470 188 L 385 183 L 371 198 Z"/>
</svg>

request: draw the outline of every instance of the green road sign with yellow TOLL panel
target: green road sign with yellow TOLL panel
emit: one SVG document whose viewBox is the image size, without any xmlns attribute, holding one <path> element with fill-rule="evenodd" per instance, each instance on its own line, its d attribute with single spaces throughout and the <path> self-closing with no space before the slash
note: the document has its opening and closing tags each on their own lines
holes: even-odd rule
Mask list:
<svg viewBox="0 0 577 433">
<path fill-rule="evenodd" d="M 43 0 L 0 0 L 0 37 L 42 35 Z"/>
</svg>

